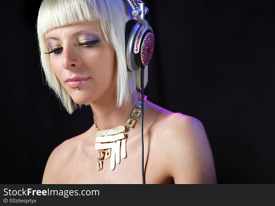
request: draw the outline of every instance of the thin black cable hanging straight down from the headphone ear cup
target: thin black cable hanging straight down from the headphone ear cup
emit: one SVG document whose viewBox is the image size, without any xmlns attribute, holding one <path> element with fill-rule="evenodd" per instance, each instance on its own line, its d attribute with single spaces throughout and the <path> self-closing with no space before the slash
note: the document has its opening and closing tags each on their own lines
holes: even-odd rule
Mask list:
<svg viewBox="0 0 275 206">
<path fill-rule="evenodd" d="M 143 94 L 143 83 L 144 83 L 144 68 L 145 66 L 142 64 L 140 66 L 140 83 L 141 83 L 141 169 L 142 169 L 142 184 L 144 183 L 144 143 L 143 143 L 143 104 L 144 104 L 144 94 Z"/>
</svg>

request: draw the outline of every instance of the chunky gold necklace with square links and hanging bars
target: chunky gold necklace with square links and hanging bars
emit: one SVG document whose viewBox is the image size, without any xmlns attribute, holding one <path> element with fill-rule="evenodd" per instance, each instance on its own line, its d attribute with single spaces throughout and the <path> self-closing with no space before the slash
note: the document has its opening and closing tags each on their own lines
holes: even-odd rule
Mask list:
<svg viewBox="0 0 275 206">
<path fill-rule="evenodd" d="M 144 100 L 145 99 L 147 99 L 146 95 L 144 95 Z M 115 164 L 120 163 L 120 157 L 122 159 L 126 158 L 126 138 L 124 135 L 125 128 L 126 127 L 132 128 L 135 122 L 137 121 L 134 118 L 138 118 L 141 113 L 141 100 L 142 100 L 142 96 L 141 96 L 141 92 L 139 92 L 138 102 L 132 114 L 129 116 L 129 118 L 123 125 L 120 125 L 116 128 L 100 130 L 93 116 L 93 121 L 97 130 L 95 149 L 99 150 L 98 161 L 97 161 L 98 171 L 103 169 L 102 167 L 103 152 L 105 153 L 104 159 L 108 159 L 111 157 L 110 159 L 111 170 L 114 170 Z M 143 107 L 144 105 L 145 103 L 143 103 Z M 120 150 L 121 150 L 121 153 L 120 153 Z"/>
</svg>

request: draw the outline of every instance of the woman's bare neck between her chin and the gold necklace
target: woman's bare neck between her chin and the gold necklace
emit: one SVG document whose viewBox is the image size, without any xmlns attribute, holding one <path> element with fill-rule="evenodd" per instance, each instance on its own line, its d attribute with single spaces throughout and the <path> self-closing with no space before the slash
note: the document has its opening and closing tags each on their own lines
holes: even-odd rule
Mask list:
<svg viewBox="0 0 275 206">
<path fill-rule="evenodd" d="M 128 102 L 124 102 L 120 108 L 116 108 L 116 92 L 104 95 L 101 100 L 90 103 L 94 118 L 100 130 L 112 129 L 123 125 L 132 113 L 137 101 L 138 91 L 134 92 Z"/>
</svg>

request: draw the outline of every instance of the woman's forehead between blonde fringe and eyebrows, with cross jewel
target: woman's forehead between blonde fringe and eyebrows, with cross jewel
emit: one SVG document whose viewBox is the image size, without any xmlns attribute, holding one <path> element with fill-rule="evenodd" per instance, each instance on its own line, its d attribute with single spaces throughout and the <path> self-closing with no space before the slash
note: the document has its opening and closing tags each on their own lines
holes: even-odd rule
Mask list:
<svg viewBox="0 0 275 206">
<path fill-rule="evenodd" d="M 66 34 L 66 37 L 73 37 L 87 32 L 95 35 L 102 35 L 98 23 L 93 21 L 50 29 L 45 33 L 45 40 L 60 38 L 64 36 L 64 34 Z"/>
</svg>

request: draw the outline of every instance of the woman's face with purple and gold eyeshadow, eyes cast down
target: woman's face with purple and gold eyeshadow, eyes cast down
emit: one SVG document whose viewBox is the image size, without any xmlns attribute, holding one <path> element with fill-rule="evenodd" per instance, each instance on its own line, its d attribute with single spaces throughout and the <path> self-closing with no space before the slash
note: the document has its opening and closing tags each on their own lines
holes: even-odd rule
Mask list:
<svg viewBox="0 0 275 206">
<path fill-rule="evenodd" d="M 96 22 L 51 29 L 45 40 L 52 69 L 74 102 L 86 104 L 110 92 L 115 95 L 115 51 Z"/>
</svg>

